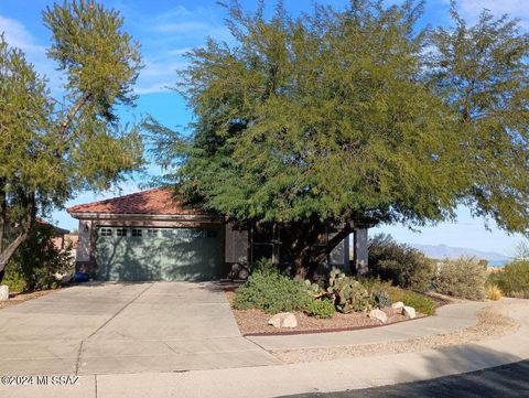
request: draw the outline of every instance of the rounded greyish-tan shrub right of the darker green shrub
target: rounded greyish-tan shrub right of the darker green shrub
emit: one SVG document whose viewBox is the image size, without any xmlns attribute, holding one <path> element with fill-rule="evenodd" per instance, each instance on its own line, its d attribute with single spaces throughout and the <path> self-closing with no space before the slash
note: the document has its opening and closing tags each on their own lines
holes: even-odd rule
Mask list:
<svg viewBox="0 0 529 398">
<path fill-rule="evenodd" d="M 435 290 L 440 293 L 467 299 L 485 298 L 486 268 L 473 257 L 445 260 L 438 266 Z"/>
</svg>

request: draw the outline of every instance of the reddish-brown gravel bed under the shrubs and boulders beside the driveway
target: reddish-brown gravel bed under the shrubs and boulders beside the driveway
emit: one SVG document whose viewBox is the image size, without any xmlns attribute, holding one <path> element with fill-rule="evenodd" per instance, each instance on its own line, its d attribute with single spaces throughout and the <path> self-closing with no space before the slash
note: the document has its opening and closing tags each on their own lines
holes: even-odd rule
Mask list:
<svg viewBox="0 0 529 398">
<path fill-rule="evenodd" d="M 226 291 L 226 297 L 231 303 L 235 298 L 235 292 Z M 354 312 L 350 314 L 335 313 L 332 319 L 317 319 L 307 316 L 303 312 L 294 312 L 298 319 L 298 327 L 295 329 L 276 329 L 268 324 L 268 320 L 272 316 L 261 310 L 235 310 L 231 309 L 237 325 L 242 335 L 262 335 L 262 334 L 296 334 L 296 333 L 319 333 L 319 332 L 337 332 L 355 329 L 376 327 L 382 324 L 374 319 L 367 316 L 364 312 Z M 388 324 L 408 321 L 407 318 L 400 313 L 392 313 L 390 309 L 388 312 Z M 425 315 L 418 314 L 418 319 Z"/>
</svg>

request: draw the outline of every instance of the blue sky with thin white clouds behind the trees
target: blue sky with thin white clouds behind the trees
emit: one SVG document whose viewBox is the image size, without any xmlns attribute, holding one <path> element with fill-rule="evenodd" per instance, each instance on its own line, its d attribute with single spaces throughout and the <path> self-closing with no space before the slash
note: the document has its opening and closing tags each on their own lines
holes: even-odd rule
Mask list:
<svg viewBox="0 0 529 398">
<path fill-rule="evenodd" d="M 62 0 L 61 0 L 62 2 Z M 241 0 L 247 9 L 253 9 L 257 1 Z M 321 0 L 320 3 L 341 8 L 346 0 Z M 398 0 L 388 0 L 388 3 Z M 41 11 L 51 6 L 47 0 L 1 0 L 0 31 L 3 31 L 11 45 L 22 49 L 35 68 L 50 78 L 54 93 L 61 93 L 61 76 L 55 65 L 45 56 L 50 43 L 50 33 L 42 25 Z M 137 83 L 140 95 L 138 106 L 122 117 L 126 120 L 139 120 L 150 114 L 162 123 L 184 127 L 192 118 L 185 103 L 170 89 L 176 82 L 175 71 L 185 66 L 183 54 L 202 45 L 206 37 L 229 41 L 229 33 L 224 26 L 225 10 L 216 1 L 204 0 L 105 0 L 105 6 L 121 11 L 125 29 L 141 43 L 145 67 Z M 269 1 L 270 7 L 272 1 Z M 284 0 L 287 9 L 293 13 L 310 11 L 313 1 Z M 447 24 L 449 0 L 429 0 L 421 23 Z M 460 0 L 461 13 L 468 21 L 476 19 L 481 10 L 487 8 L 495 14 L 509 13 L 519 18 L 523 29 L 529 26 L 529 1 L 523 0 Z M 152 166 L 150 172 L 156 173 Z M 80 193 L 67 206 L 130 193 L 138 190 L 140 179 L 122 184 L 118 190 L 100 194 Z M 494 223 L 485 228 L 483 219 L 472 218 L 469 212 L 461 207 L 456 223 L 443 223 L 434 227 L 412 232 L 402 226 L 382 226 L 375 232 L 385 232 L 407 243 L 469 247 L 481 250 L 494 250 L 510 255 L 521 236 L 509 236 L 498 230 Z M 65 211 L 53 214 L 52 220 L 65 228 L 75 228 L 77 222 Z"/>
</svg>

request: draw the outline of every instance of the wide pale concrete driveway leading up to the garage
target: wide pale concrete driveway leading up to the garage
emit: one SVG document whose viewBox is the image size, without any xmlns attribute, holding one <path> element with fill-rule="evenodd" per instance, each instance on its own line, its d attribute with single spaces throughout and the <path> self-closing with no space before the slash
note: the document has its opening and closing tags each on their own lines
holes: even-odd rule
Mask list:
<svg viewBox="0 0 529 398">
<path fill-rule="evenodd" d="M 277 364 L 214 283 L 83 284 L 0 310 L 0 374 L 184 372 Z"/>
</svg>

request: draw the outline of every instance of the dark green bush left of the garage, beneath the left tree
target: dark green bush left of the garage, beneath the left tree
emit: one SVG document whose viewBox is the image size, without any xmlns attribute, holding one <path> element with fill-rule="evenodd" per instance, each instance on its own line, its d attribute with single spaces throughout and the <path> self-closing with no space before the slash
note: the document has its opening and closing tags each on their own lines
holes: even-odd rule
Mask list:
<svg viewBox="0 0 529 398">
<path fill-rule="evenodd" d="M 53 228 L 39 225 L 8 266 L 7 279 L 18 281 L 23 291 L 58 288 L 57 275 L 73 272 L 73 257 L 69 248 L 56 248 L 52 238 Z"/>
</svg>

